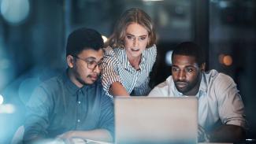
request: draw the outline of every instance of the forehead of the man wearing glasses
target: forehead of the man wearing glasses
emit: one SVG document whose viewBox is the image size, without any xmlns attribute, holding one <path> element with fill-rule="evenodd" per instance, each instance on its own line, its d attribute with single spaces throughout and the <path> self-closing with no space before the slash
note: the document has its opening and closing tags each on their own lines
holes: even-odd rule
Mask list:
<svg viewBox="0 0 256 144">
<path fill-rule="evenodd" d="M 103 57 L 103 50 L 92 50 L 92 49 L 87 49 L 87 50 L 82 50 L 80 54 L 78 54 L 79 57 L 86 59 L 86 58 L 94 58 L 95 60 L 100 60 Z"/>
</svg>

